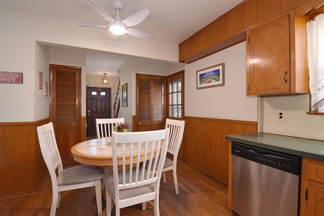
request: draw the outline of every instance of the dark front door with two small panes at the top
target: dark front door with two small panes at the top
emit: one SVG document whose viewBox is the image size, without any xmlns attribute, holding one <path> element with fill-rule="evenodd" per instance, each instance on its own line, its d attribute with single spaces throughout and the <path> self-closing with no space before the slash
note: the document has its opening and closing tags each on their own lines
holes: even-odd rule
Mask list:
<svg viewBox="0 0 324 216">
<path fill-rule="evenodd" d="M 96 118 L 111 118 L 111 88 L 87 87 L 87 137 L 96 136 Z"/>
</svg>

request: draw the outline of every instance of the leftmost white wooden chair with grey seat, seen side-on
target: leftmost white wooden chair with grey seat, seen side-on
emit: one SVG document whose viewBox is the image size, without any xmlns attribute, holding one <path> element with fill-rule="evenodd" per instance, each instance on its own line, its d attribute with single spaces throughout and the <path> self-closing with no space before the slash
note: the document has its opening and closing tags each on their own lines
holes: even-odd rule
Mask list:
<svg viewBox="0 0 324 216">
<path fill-rule="evenodd" d="M 39 146 L 49 170 L 52 181 L 52 205 L 50 215 L 55 216 L 60 206 L 61 191 L 95 187 L 98 215 L 102 212 L 101 201 L 101 167 L 77 165 L 63 169 L 61 156 L 57 147 L 53 123 L 37 126 Z M 57 170 L 57 174 L 56 174 Z"/>
</svg>

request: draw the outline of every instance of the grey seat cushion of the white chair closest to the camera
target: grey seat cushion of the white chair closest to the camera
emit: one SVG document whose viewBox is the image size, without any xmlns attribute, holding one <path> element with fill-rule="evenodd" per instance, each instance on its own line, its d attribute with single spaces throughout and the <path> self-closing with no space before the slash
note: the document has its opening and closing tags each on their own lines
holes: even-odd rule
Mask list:
<svg viewBox="0 0 324 216">
<path fill-rule="evenodd" d="M 133 171 L 133 180 L 135 180 L 135 170 Z M 141 171 L 140 171 L 141 172 Z M 145 175 L 145 174 L 144 174 Z M 130 173 L 127 173 L 127 179 L 129 179 Z M 141 175 L 139 175 L 141 176 Z M 113 175 L 105 176 L 103 178 L 106 190 L 109 192 L 111 197 L 115 198 L 115 186 L 114 186 L 114 180 L 113 180 Z M 118 181 L 119 184 L 123 183 L 123 175 L 118 174 Z M 127 180 L 126 180 L 127 181 Z M 136 188 L 130 188 L 130 189 L 125 189 L 125 190 L 120 190 L 119 191 L 119 199 L 127 199 L 130 197 L 135 197 L 135 196 L 140 196 L 143 194 L 151 193 L 154 192 L 154 186 L 153 185 L 144 185 Z"/>
</svg>

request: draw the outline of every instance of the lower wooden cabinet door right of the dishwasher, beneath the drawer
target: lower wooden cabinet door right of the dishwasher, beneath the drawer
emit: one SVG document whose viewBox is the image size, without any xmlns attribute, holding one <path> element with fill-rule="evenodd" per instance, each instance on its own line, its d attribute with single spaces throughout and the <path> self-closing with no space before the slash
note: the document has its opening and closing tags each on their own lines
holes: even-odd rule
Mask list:
<svg viewBox="0 0 324 216">
<path fill-rule="evenodd" d="M 308 185 L 307 216 L 323 215 L 324 213 L 324 188 Z"/>
</svg>

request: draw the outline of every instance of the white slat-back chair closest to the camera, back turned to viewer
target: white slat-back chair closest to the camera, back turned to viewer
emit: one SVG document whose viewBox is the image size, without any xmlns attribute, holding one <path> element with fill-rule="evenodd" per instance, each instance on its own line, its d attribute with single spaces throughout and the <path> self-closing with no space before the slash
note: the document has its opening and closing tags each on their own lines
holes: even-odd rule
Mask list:
<svg viewBox="0 0 324 216">
<path fill-rule="evenodd" d="M 120 208 L 150 200 L 154 203 L 154 215 L 159 215 L 159 186 L 167 156 L 168 137 L 169 129 L 112 133 L 113 175 L 103 178 L 106 187 L 107 215 L 111 215 L 111 199 L 115 203 L 116 216 L 120 214 Z M 151 152 L 154 150 L 155 155 L 159 155 L 158 160 L 153 160 L 155 155 Z M 139 151 L 140 158 L 137 157 Z M 117 154 L 123 154 L 123 157 L 117 158 Z M 152 167 L 152 172 L 147 171 L 142 164 Z"/>
</svg>

